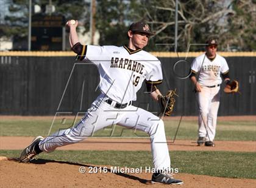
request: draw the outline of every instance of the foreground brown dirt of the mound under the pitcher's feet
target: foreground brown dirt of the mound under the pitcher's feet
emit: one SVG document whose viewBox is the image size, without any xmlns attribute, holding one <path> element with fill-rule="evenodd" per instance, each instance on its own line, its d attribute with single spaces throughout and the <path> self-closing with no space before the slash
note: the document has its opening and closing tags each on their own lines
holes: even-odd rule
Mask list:
<svg viewBox="0 0 256 188">
<path fill-rule="evenodd" d="M 151 173 L 80 173 L 80 167 L 94 167 L 38 159 L 32 164 L 0 161 L 0 187 L 167 187 L 151 184 Z M 178 173 L 183 180 L 180 187 L 255 187 L 256 180 L 218 178 L 205 175 Z M 169 186 L 168 186 L 169 187 Z M 179 187 L 179 186 L 171 186 Z"/>
</svg>

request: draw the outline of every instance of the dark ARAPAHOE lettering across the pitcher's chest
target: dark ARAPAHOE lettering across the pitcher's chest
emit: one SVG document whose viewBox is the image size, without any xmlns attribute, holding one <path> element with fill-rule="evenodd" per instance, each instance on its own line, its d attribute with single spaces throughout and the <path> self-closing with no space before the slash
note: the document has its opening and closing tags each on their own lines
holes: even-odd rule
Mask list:
<svg viewBox="0 0 256 188">
<path fill-rule="evenodd" d="M 144 68 L 144 65 L 140 62 L 133 61 L 130 59 L 123 59 L 123 58 L 111 58 L 111 68 L 120 68 L 120 69 L 127 69 L 132 70 L 134 72 L 143 74 L 142 70 Z"/>
</svg>

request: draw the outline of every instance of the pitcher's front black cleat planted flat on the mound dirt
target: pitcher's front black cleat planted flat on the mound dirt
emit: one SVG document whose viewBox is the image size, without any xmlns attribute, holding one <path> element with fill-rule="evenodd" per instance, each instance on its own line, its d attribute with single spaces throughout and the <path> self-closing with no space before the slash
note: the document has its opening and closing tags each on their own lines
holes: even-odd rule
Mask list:
<svg viewBox="0 0 256 188">
<path fill-rule="evenodd" d="M 153 173 L 151 183 L 162 183 L 162 184 L 169 184 L 169 185 L 181 185 L 183 184 L 183 181 L 176 180 L 170 173 L 159 173 L 158 175 L 155 175 Z"/>
</svg>

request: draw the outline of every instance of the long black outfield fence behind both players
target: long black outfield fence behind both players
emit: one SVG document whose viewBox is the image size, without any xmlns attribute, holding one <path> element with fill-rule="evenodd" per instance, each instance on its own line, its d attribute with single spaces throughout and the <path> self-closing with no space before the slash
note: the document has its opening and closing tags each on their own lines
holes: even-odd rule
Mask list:
<svg viewBox="0 0 256 188">
<path fill-rule="evenodd" d="M 0 58 L 0 115 L 84 113 L 100 93 L 97 68 L 93 64 L 78 63 L 74 57 Z M 188 75 L 193 58 L 187 58 L 187 61 L 159 59 L 163 68 L 160 90 L 165 93 L 168 89 L 176 88 L 179 94 L 173 115 L 197 115 L 194 87 L 189 78 L 181 78 Z M 240 82 L 241 94 L 227 95 L 221 92 L 218 115 L 255 115 L 255 57 L 227 57 L 226 60 L 230 77 Z M 158 111 L 158 104 L 146 93 L 144 85 L 133 105 L 153 113 Z"/>
</svg>

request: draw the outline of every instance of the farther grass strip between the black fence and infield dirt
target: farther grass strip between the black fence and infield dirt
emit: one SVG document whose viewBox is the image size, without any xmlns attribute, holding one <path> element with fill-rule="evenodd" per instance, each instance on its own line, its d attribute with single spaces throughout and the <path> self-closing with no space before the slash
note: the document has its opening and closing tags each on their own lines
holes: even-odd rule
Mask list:
<svg viewBox="0 0 256 188">
<path fill-rule="evenodd" d="M 66 129 L 76 122 L 73 119 L 57 119 L 51 129 L 51 133 L 59 129 Z M 27 119 L 0 119 L 0 136 L 36 136 L 48 135 L 52 119 L 27 120 Z M 168 139 L 173 139 L 179 121 L 165 121 L 165 132 Z M 115 129 L 115 131 L 113 131 Z M 115 137 L 145 137 L 144 132 L 126 129 L 120 126 L 106 127 L 94 133 L 94 136 Z M 196 139 L 197 121 L 182 121 L 176 139 Z M 241 140 L 256 141 L 255 121 L 218 121 L 215 140 Z"/>
</svg>

